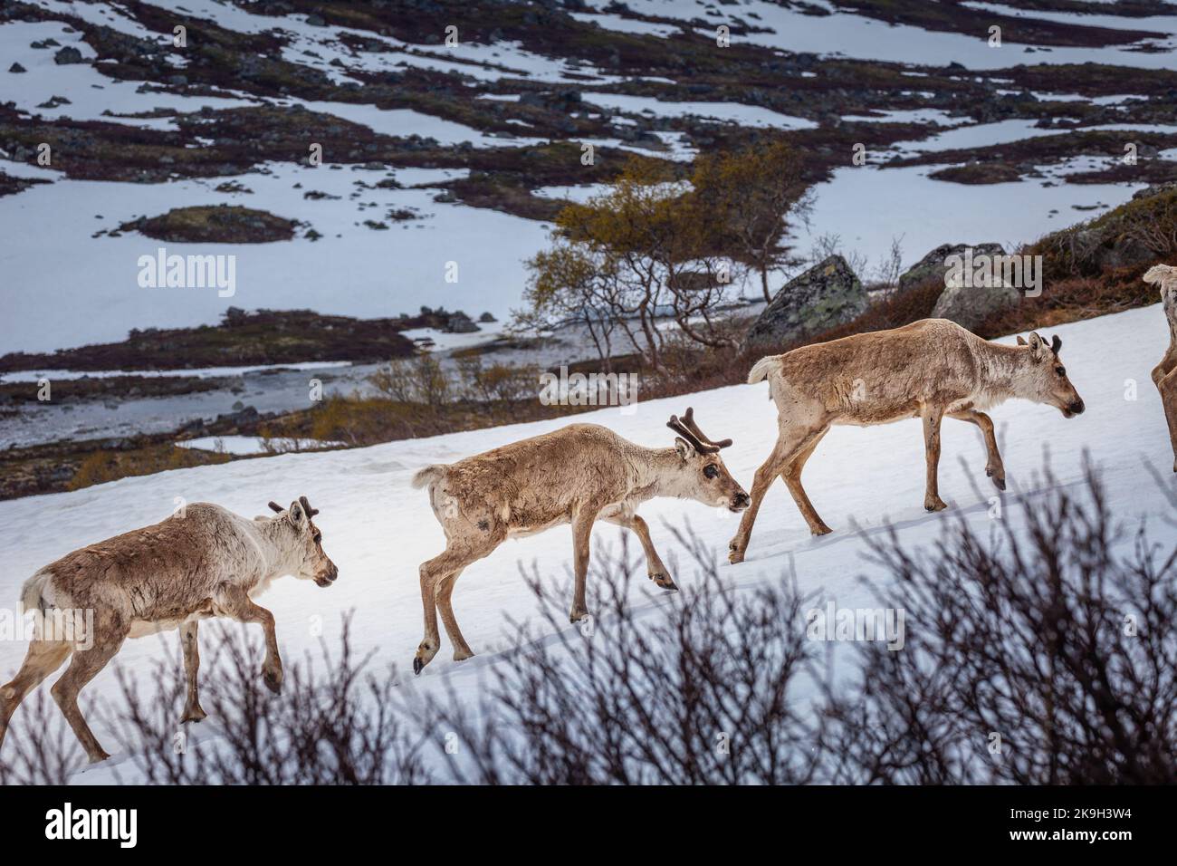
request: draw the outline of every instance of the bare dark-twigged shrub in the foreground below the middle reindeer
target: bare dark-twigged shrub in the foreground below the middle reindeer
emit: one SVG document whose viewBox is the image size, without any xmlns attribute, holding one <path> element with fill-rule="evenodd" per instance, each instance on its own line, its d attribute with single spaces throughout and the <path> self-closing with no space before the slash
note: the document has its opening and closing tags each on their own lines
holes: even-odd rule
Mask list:
<svg viewBox="0 0 1177 866">
<path fill-rule="evenodd" d="M 457 734 L 455 780 L 478 784 L 800 784 L 805 748 L 794 677 L 809 647 L 796 589 L 738 590 L 693 536 L 699 575 L 649 612 L 629 602 L 636 567 L 598 556 L 597 616 L 570 629 L 567 588 L 525 579 L 545 627 L 518 627 L 479 707 L 430 701 L 420 719 Z M 639 580 L 645 580 L 644 575 Z M 791 626 L 792 623 L 792 626 Z M 540 633 L 547 635 L 540 639 Z M 439 743 L 440 745 L 440 743 Z"/>
</svg>

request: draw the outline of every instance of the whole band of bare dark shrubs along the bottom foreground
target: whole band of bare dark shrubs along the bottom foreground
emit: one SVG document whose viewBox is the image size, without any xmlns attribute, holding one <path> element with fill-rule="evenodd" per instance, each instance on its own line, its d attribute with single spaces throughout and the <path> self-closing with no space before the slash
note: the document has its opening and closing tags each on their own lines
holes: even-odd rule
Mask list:
<svg viewBox="0 0 1177 866">
<path fill-rule="evenodd" d="M 878 608 L 905 610 L 905 643 L 839 648 L 849 676 L 831 676 L 829 644 L 807 635 L 825 599 L 789 575 L 737 591 L 684 528 L 694 574 L 653 613 L 632 600 L 640 556 L 624 540 L 598 553 L 592 632 L 567 626 L 568 586 L 525 570 L 541 616 L 517 627 L 518 663 L 492 666 L 478 706 L 414 698 L 406 672 L 354 653 L 344 617 L 340 646 L 287 665 L 279 695 L 257 675 L 259 640 L 210 629 L 202 702 L 218 738 L 177 732 L 179 649 L 145 679 L 120 672 L 102 721 L 128 756 L 119 775 L 149 784 L 1171 781 L 1177 551 L 1156 522 L 1118 525 L 1092 472 L 1040 481 L 1030 489 L 1046 493 L 1015 493 L 1019 517 L 992 529 L 950 518 L 919 549 L 878 536 L 869 586 Z M 9 731 L 0 782 L 78 767 L 41 698 Z"/>
</svg>

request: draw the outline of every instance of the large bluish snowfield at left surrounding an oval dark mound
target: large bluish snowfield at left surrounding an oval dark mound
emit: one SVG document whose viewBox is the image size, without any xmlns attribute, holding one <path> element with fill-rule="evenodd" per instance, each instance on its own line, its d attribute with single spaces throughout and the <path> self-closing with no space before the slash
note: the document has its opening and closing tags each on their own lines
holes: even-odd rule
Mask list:
<svg viewBox="0 0 1177 866">
<path fill-rule="evenodd" d="M 16 167 L 0 161 L 6 171 L 9 165 Z M 291 164 L 264 171 L 235 178 L 253 194 L 215 192 L 217 185 L 233 179 L 218 177 L 167 184 L 66 179 L 0 198 L 6 234 L 0 266 L 6 286 L 14 287 L 6 293 L 0 345 L 5 351 L 49 351 L 114 342 L 131 328 L 217 322 L 228 306 L 387 317 L 424 304 L 485 310 L 503 319 L 523 293 L 524 259 L 546 243 L 540 223 L 437 203 L 437 190 L 357 186 L 363 180 L 374 187 L 390 176 L 410 186 L 438 183 L 460 172 Z M 305 199 L 311 191 L 339 198 Z M 307 222 L 322 237 L 312 242 L 299 231 L 292 240 L 267 244 L 173 244 L 137 232 L 92 237 L 137 216 L 220 203 Z M 413 209 L 420 218 L 387 219 L 395 209 Z M 388 229 L 370 229 L 365 220 L 384 222 Z M 219 297 L 215 289 L 141 289 L 138 259 L 154 256 L 160 246 L 168 254 L 237 256 L 235 295 Z M 61 254 L 62 250 L 72 254 Z M 459 265 L 457 283 L 446 282 L 450 262 Z M 31 286 L 36 291 L 25 290 Z"/>
</svg>

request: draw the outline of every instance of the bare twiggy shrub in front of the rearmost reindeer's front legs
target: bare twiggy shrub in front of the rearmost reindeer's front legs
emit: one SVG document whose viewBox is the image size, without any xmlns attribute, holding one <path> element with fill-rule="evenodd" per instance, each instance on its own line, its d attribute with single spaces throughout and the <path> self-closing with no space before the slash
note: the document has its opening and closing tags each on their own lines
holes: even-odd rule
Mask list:
<svg viewBox="0 0 1177 866">
<path fill-rule="evenodd" d="M 355 659 L 350 617 L 338 652 L 321 643 L 286 667 L 282 690 L 261 685 L 262 652 L 240 628 L 214 628 L 202 659 L 201 703 L 208 719 L 178 725 L 185 681 L 180 659 L 160 662 L 148 677 L 151 698 L 119 669 L 122 706 L 107 720 L 147 784 L 167 785 L 392 785 L 425 782 L 417 743 L 393 702 L 395 668 L 366 670 Z M 219 632 L 219 634 L 217 634 Z M 214 721 L 215 720 L 215 721 Z M 213 736 L 205 738 L 204 728 Z"/>
</svg>

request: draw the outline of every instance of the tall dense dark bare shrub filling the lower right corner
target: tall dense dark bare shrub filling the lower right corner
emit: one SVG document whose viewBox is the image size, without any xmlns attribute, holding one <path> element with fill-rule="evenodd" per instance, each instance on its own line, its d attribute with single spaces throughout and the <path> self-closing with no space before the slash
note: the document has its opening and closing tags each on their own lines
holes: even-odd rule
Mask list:
<svg viewBox="0 0 1177 866">
<path fill-rule="evenodd" d="M 935 549 L 875 547 L 907 637 L 827 688 L 833 781 L 1177 779 L 1177 549 L 1113 525 L 1090 467 L 1085 493 L 1043 482 L 989 538 L 958 517 Z"/>
</svg>

